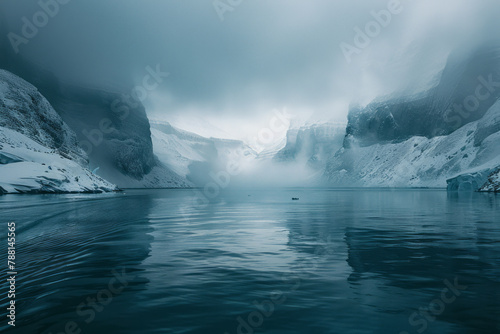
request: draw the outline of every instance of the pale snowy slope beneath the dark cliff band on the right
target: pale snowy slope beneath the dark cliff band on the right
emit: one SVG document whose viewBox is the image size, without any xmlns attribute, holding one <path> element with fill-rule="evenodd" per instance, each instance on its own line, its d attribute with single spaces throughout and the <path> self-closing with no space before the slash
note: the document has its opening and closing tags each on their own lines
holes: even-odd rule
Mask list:
<svg viewBox="0 0 500 334">
<path fill-rule="evenodd" d="M 500 166 L 500 101 L 479 121 L 448 136 L 360 146 L 353 136 L 325 171 L 336 185 L 380 187 L 446 187 L 464 173 Z"/>
</svg>

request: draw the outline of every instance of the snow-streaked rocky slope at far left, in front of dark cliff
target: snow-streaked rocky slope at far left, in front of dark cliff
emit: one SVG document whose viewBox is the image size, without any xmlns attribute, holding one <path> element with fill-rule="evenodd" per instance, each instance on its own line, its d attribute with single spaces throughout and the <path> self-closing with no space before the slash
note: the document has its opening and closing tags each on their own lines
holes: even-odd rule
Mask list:
<svg viewBox="0 0 500 334">
<path fill-rule="evenodd" d="M 102 192 L 75 133 L 38 90 L 0 70 L 0 193 Z"/>
</svg>

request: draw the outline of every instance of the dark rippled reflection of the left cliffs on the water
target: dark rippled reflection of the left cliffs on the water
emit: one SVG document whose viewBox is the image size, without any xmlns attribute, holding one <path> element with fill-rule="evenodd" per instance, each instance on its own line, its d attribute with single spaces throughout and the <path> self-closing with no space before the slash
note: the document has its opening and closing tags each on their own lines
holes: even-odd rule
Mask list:
<svg viewBox="0 0 500 334">
<path fill-rule="evenodd" d="M 103 314 L 95 312 L 91 323 L 76 308 L 108 287 L 113 270 L 133 277 L 128 294 L 143 288 L 148 279 L 137 265 L 150 250 L 151 205 L 144 194 L 6 196 L 2 218 L 17 223 L 16 332 L 64 332 L 68 321 L 84 332 L 119 327 L 105 319 L 123 313 L 123 295 L 115 295 Z"/>
</svg>

